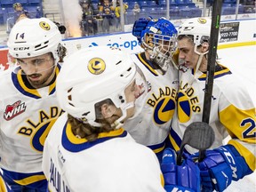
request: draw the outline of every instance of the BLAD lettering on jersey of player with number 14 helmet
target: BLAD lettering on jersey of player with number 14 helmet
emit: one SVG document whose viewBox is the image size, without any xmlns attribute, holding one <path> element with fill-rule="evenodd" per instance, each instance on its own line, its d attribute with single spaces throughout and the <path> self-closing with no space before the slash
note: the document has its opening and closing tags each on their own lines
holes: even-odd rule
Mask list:
<svg viewBox="0 0 256 192">
<path fill-rule="evenodd" d="M 59 109 L 57 107 L 50 108 L 50 114 L 47 114 L 46 112 L 41 110 L 39 111 L 39 122 L 35 123 L 31 119 L 28 119 L 26 121 L 28 123 L 28 126 L 21 127 L 19 133 L 26 136 L 30 136 L 36 128 L 41 127 L 42 124 L 48 122 L 53 118 L 60 116 L 62 113 L 64 113 L 64 110 Z"/>
</svg>

